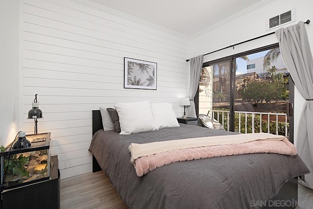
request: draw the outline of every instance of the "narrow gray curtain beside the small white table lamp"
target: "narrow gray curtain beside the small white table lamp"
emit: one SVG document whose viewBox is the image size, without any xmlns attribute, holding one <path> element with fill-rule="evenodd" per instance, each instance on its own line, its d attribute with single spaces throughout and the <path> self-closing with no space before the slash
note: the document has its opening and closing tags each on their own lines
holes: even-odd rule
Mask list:
<svg viewBox="0 0 313 209">
<path fill-rule="evenodd" d="M 197 94 L 197 90 L 199 87 L 201 68 L 203 64 L 203 55 L 199 55 L 194 58 L 190 58 L 190 83 L 189 83 L 189 100 L 190 106 L 188 107 L 188 117 L 197 118 L 196 115 L 196 107 L 194 98 Z"/>
</svg>

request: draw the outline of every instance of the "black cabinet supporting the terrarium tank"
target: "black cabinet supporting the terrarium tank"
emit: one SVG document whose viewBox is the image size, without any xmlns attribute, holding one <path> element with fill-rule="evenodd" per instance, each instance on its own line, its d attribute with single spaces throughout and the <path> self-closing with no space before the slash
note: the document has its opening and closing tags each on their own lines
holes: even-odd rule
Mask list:
<svg viewBox="0 0 313 209">
<path fill-rule="evenodd" d="M 1 192 L 2 209 L 60 209 L 58 156 L 51 156 L 50 179 Z"/>
</svg>

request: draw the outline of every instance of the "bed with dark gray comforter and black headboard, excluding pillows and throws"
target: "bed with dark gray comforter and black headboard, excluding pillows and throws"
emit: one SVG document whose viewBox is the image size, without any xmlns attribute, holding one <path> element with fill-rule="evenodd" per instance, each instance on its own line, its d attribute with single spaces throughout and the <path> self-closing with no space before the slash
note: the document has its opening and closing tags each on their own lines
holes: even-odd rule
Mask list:
<svg viewBox="0 0 313 209">
<path fill-rule="evenodd" d="M 177 162 L 138 177 L 130 162 L 131 143 L 237 134 L 179 125 L 119 135 L 104 131 L 100 111 L 93 110 L 93 172 L 103 170 L 132 209 L 296 207 L 297 176 L 309 172 L 297 155 L 259 153 Z"/>
</svg>

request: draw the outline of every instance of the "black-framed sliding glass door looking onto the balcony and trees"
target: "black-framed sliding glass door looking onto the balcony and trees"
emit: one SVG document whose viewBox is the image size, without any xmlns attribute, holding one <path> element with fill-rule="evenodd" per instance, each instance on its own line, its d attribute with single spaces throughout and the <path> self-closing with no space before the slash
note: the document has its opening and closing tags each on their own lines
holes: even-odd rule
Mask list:
<svg viewBox="0 0 313 209">
<path fill-rule="evenodd" d="M 199 114 L 213 117 L 229 131 L 289 136 L 289 80 L 277 44 L 204 63 Z"/>
</svg>

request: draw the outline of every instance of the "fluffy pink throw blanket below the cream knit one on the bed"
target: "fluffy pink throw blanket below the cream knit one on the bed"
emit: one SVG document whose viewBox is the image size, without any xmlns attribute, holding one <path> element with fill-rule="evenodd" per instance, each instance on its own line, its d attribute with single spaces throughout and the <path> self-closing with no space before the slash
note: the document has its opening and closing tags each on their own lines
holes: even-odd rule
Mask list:
<svg viewBox="0 0 313 209">
<path fill-rule="evenodd" d="M 286 138 L 281 141 L 258 140 L 243 144 L 194 147 L 156 153 L 135 159 L 134 167 L 137 176 L 140 177 L 157 167 L 162 167 L 174 162 L 251 153 L 296 155 L 297 151 L 295 146 Z"/>
</svg>

